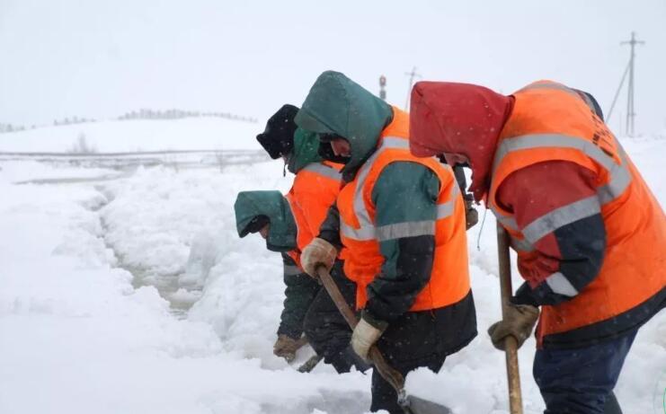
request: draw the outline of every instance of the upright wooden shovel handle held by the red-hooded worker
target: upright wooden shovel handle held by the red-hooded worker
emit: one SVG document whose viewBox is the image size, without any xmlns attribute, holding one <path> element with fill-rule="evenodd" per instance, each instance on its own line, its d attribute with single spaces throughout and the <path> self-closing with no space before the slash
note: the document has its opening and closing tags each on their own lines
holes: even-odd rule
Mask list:
<svg viewBox="0 0 666 414">
<path fill-rule="evenodd" d="M 497 223 L 497 254 L 500 262 L 500 293 L 502 295 L 502 318 L 506 315 L 509 298 L 513 294 L 511 287 L 511 258 L 509 257 L 509 233 Z M 520 374 L 518 372 L 518 341 L 511 335 L 504 339 L 506 355 L 506 374 L 509 383 L 509 408 L 511 414 L 522 414 L 522 396 L 520 393 Z"/>
</svg>

